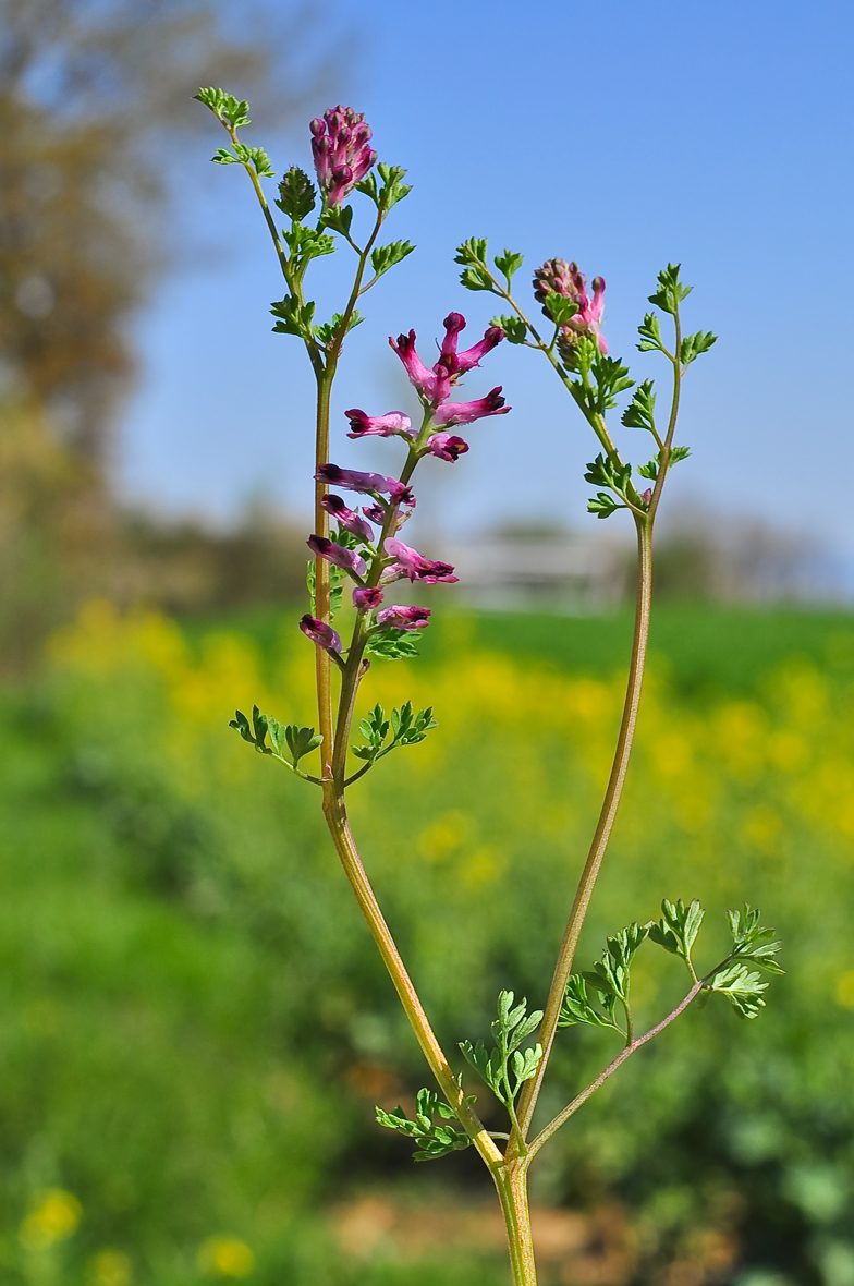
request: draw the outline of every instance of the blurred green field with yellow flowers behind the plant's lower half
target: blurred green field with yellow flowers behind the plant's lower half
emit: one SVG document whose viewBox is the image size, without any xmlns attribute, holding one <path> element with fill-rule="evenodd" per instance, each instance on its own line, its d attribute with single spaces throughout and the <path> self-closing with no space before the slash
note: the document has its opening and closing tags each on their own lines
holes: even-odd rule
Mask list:
<svg viewBox="0 0 854 1286">
<path fill-rule="evenodd" d="M 365 706 L 440 721 L 354 788 L 352 819 L 448 1048 L 499 988 L 545 992 L 629 637 L 628 616 L 449 615 L 365 683 Z M 426 1080 L 314 788 L 225 727 L 253 701 L 310 723 L 311 664 L 289 616 L 94 604 L 3 694 L 3 1281 L 504 1281 L 476 1159 L 414 1166 L 373 1124 Z M 657 613 L 580 964 L 698 896 L 704 961 L 747 899 L 788 974 L 754 1024 L 689 1012 L 544 1152 L 547 1283 L 854 1286 L 853 697 L 851 617 Z M 680 986 L 659 957 L 642 1021 Z M 545 1110 L 612 1053 L 565 1033 Z"/>
</svg>

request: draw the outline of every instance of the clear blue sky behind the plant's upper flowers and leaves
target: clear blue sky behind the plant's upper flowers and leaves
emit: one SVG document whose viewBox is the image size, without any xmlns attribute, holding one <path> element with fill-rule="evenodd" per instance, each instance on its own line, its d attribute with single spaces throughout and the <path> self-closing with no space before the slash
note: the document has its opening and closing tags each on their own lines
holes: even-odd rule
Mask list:
<svg viewBox="0 0 854 1286">
<path fill-rule="evenodd" d="M 693 455 L 674 472 L 674 502 L 809 531 L 854 561 L 854 9 L 328 0 L 323 12 L 349 50 L 327 98 L 364 111 L 381 158 L 409 168 L 414 190 L 388 235 L 418 246 L 365 301 L 333 459 L 396 463 L 399 444 L 349 442 L 341 414 L 410 405 L 388 334 L 414 327 L 430 351 L 451 309 L 472 337 L 489 320 L 489 297 L 458 284 L 463 238 L 523 252 L 523 294 L 550 256 L 604 275 L 611 350 L 638 379 L 664 376 L 634 350 L 634 328 L 657 270 L 680 261 L 695 285 L 687 324 L 720 340 L 691 370 L 679 436 Z M 309 104 L 306 121 L 325 105 Z M 277 265 L 244 177 L 208 166 L 214 126 L 211 149 L 186 158 L 181 222 L 195 248 L 139 320 L 121 484 L 167 511 L 229 518 L 262 495 L 307 514 L 310 374 L 298 342 L 270 333 Z M 250 134 L 277 170 L 307 166 L 307 130 Z M 329 311 L 333 262 L 318 273 Z M 512 414 L 473 426 L 457 466 L 428 462 L 422 522 L 458 534 L 499 517 L 593 521 L 589 431 L 543 359 L 505 345 L 468 390 L 494 383 Z M 619 433 L 629 455 L 648 454 L 640 435 Z"/>
</svg>

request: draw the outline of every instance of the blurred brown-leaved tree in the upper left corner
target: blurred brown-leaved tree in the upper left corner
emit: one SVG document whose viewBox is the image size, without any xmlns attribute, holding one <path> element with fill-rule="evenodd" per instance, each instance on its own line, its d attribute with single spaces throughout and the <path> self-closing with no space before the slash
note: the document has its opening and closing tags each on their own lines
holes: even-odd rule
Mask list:
<svg viewBox="0 0 854 1286">
<path fill-rule="evenodd" d="M 309 10 L 282 10 L 0 0 L 0 394 L 96 466 L 132 372 L 126 324 L 166 260 L 181 135 L 210 131 L 192 94 L 228 82 L 282 121 L 324 75 Z"/>
</svg>

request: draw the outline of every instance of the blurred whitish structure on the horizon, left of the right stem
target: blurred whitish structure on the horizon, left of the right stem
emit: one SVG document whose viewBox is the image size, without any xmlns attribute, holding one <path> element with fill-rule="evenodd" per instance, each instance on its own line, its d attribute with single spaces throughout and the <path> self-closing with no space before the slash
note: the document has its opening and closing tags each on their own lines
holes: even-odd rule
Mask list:
<svg viewBox="0 0 854 1286">
<path fill-rule="evenodd" d="M 460 579 L 459 599 L 473 607 L 579 616 L 617 607 L 631 565 L 626 545 L 604 532 L 523 529 L 475 536 L 446 557 Z"/>
</svg>

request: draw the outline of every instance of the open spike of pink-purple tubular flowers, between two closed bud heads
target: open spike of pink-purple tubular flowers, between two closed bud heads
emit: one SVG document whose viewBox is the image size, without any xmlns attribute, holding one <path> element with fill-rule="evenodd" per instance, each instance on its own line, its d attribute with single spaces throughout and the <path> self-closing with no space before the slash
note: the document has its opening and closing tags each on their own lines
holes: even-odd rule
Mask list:
<svg viewBox="0 0 854 1286">
<path fill-rule="evenodd" d="M 323 186 L 320 170 L 318 177 Z M 354 408 L 345 413 L 350 422 L 349 437 L 400 437 L 405 441 L 409 454 L 400 478 L 347 469 L 338 464 L 322 464 L 315 473 L 315 478 L 320 482 L 372 498 L 372 504 L 361 505 L 359 513 L 350 508 L 342 496 L 327 493 L 320 503 L 337 521 L 338 536 L 331 540 L 313 535 L 307 544 L 316 557 L 325 558 L 355 581 L 354 607 L 368 619 L 369 629 L 373 630 L 422 630 L 430 621 L 428 607 L 406 607 L 399 603 L 383 607 L 388 585 L 404 577 L 412 584 L 422 585 L 451 584 L 458 579 L 450 563 L 426 558 L 412 545 L 397 539 L 397 532 L 415 507 L 415 496 L 409 485 L 415 466 L 424 455 L 433 455 L 453 464 L 468 451 L 468 442 L 455 433 L 449 433 L 449 428 L 455 424 L 471 424 L 490 415 L 503 415 L 509 410 L 509 406 L 504 405 L 500 387 L 472 401 L 450 401 L 454 385 L 468 370 L 480 365 L 481 359 L 504 338 L 500 327 L 490 327 L 482 340 L 459 352 L 458 338 L 464 325 L 466 319 L 459 312 L 450 312 L 445 318 L 445 337 L 432 369 L 427 368 L 415 352 L 414 331 L 399 336 L 396 342 L 388 341 L 418 391 L 423 406 L 421 430 L 415 430 L 410 417 L 399 410 L 387 412 L 385 415 L 368 415 L 364 410 Z M 379 531 L 376 532 L 374 527 Z M 377 615 L 372 625 L 373 613 Z M 300 629 L 318 647 L 340 658 L 341 639 L 331 625 L 306 615 L 300 622 Z"/>
</svg>

